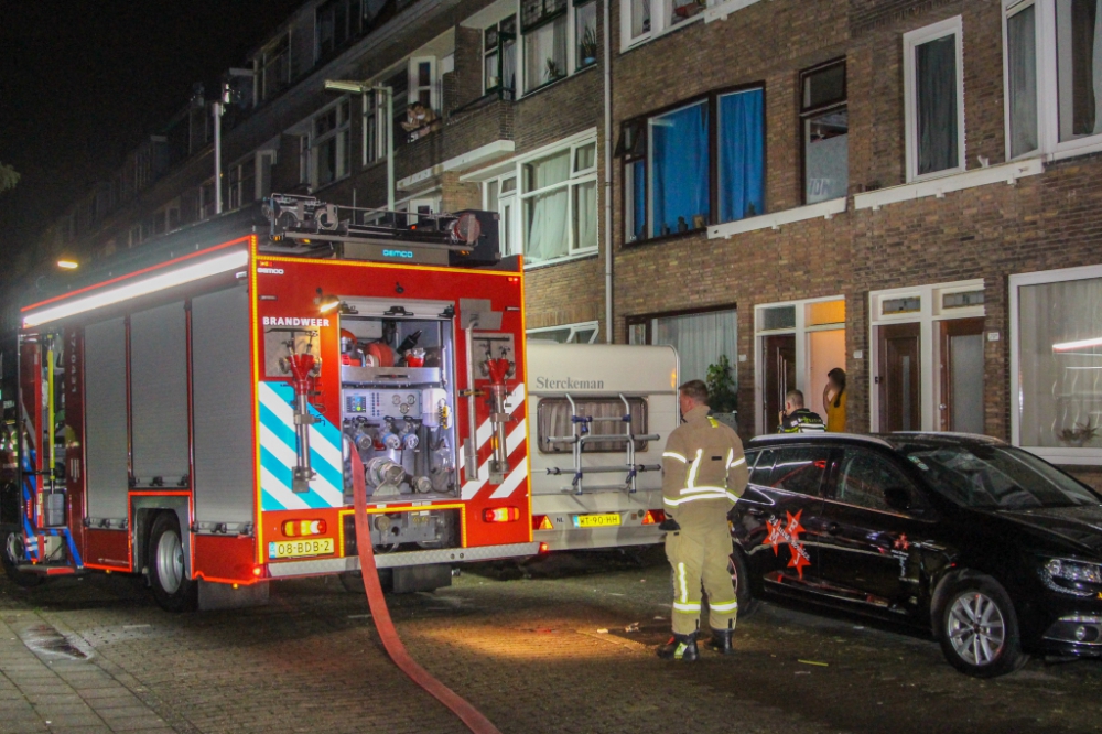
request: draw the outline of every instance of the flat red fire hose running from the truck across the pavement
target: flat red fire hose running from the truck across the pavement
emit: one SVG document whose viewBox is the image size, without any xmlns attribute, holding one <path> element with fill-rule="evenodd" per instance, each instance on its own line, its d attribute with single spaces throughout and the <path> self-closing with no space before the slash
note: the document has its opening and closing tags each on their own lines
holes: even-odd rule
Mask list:
<svg viewBox="0 0 1102 734">
<path fill-rule="evenodd" d="M 379 630 L 382 646 L 387 655 L 410 677 L 414 683 L 431 693 L 437 701 L 447 706 L 452 713 L 467 725 L 474 734 L 501 734 L 486 716 L 462 699 L 455 691 L 433 678 L 428 670 L 419 666 L 402 645 L 390 618 L 390 609 L 382 596 L 379 584 L 379 570 L 375 566 L 375 552 L 371 548 L 371 530 L 367 523 L 367 484 L 364 479 L 364 464 L 359 454 L 352 452 L 352 486 L 356 506 L 356 548 L 359 550 L 359 566 L 364 575 L 364 589 L 367 591 L 367 603 L 371 607 L 371 618 L 375 628 Z"/>
</svg>

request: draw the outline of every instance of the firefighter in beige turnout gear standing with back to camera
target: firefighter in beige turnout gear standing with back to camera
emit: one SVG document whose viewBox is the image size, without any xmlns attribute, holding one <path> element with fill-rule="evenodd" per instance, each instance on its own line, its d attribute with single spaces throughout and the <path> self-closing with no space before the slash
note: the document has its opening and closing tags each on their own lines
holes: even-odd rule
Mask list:
<svg viewBox="0 0 1102 734">
<path fill-rule="evenodd" d="M 673 637 L 658 649 L 667 659 L 695 660 L 701 583 L 707 592 L 709 647 L 730 655 L 738 602 L 728 570 L 733 551 L 727 512 L 746 488 L 743 443 L 709 417 L 707 388 L 691 380 L 679 391 L 684 424 L 662 454 L 666 557 L 673 566 Z"/>
</svg>

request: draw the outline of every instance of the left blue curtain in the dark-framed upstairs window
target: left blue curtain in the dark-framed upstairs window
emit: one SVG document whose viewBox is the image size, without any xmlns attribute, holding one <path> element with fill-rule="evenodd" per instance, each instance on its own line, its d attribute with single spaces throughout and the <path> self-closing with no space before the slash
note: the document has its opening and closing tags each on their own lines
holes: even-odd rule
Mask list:
<svg viewBox="0 0 1102 734">
<path fill-rule="evenodd" d="M 707 102 L 650 120 L 651 236 L 693 228 L 709 218 Z"/>
</svg>

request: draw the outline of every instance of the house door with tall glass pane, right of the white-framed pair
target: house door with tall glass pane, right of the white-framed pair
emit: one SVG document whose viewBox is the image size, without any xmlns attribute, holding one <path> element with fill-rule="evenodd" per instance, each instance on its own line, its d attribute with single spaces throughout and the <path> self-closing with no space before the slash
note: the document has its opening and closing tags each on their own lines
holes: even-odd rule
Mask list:
<svg viewBox="0 0 1102 734">
<path fill-rule="evenodd" d="M 983 319 L 941 322 L 942 431 L 983 433 Z"/>
</svg>

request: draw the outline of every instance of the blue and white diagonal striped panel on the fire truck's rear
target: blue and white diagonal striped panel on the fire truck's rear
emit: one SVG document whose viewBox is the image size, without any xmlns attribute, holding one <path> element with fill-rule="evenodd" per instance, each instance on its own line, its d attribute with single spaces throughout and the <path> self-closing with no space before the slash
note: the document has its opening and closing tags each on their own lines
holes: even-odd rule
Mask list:
<svg viewBox="0 0 1102 734">
<path fill-rule="evenodd" d="M 298 462 L 294 389 L 285 382 L 260 382 L 260 507 L 263 510 L 344 506 L 344 455 L 341 431 L 313 407 L 318 421 L 310 427 L 310 465 L 315 476 L 307 492 L 292 490 Z"/>
</svg>

